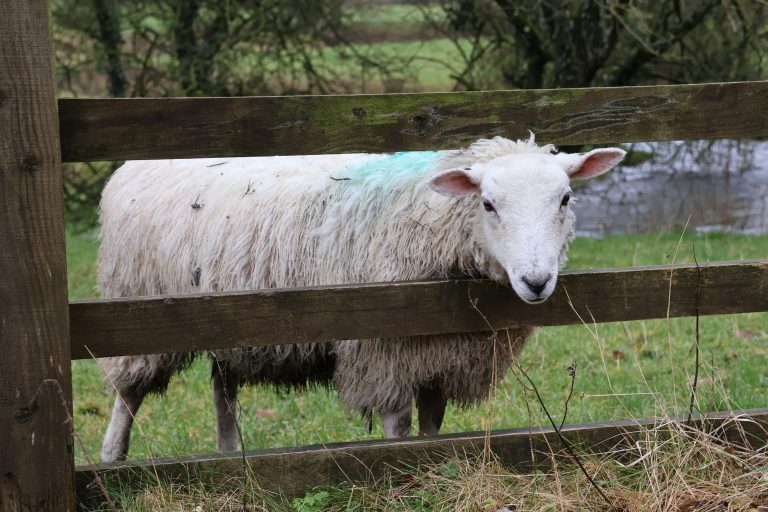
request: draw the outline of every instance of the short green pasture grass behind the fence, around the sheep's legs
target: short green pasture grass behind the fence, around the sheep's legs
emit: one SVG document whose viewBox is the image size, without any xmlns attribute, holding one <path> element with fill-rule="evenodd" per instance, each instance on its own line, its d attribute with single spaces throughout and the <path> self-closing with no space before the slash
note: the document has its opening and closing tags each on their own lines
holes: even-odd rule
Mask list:
<svg viewBox="0 0 768 512">
<path fill-rule="evenodd" d="M 668 263 L 679 235 L 637 235 L 604 240 L 581 238 L 570 252 L 569 269 Z M 95 295 L 92 234 L 67 237 L 69 285 L 73 298 Z M 754 259 L 768 255 L 768 237 L 727 234 L 686 236 L 677 261 Z M 664 300 L 664 298 L 660 298 Z M 540 329 L 523 351 L 521 365 L 537 383 L 545 403 L 557 415 L 569 387 L 567 368 L 576 362 L 574 398 L 568 421 L 586 422 L 685 412 L 693 370 L 693 319 L 625 322 L 598 326 Z M 765 405 L 768 376 L 768 315 L 745 314 L 701 319 L 701 410 Z M 196 362 L 176 378 L 165 397 L 149 397 L 138 415 L 131 458 L 150 454 L 182 455 L 215 451 L 215 419 L 209 368 Z M 95 361 L 73 363 L 75 426 L 88 452 L 96 457 L 112 406 L 112 395 Z M 359 417 L 346 412 L 335 393 L 315 389 L 278 393 L 255 387 L 241 395 L 242 428 L 249 449 L 318 442 L 380 438 L 378 422 L 369 434 Z M 466 410 L 450 407 L 444 432 L 480 430 L 488 407 L 492 428 L 543 424 L 538 407 L 512 372 L 495 400 Z M 83 455 L 78 453 L 78 461 Z"/>
</svg>

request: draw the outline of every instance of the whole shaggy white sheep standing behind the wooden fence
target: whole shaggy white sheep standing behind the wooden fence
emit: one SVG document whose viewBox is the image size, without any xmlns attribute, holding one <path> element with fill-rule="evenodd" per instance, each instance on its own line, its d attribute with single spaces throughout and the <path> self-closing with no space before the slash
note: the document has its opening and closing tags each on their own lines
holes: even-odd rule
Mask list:
<svg viewBox="0 0 768 512">
<path fill-rule="evenodd" d="M 569 181 L 623 156 L 556 153 L 531 135 L 449 152 L 128 162 L 101 201 L 99 286 L 121 297 L 470 276 L 539 303 L 573 238 Z M 232 404 L 252 383 L 332 382 L 388 438 L 410 433 L 415 400 L 419 432 L 437 434 L 446 404 L 486 398 L 531 331 L 500 344 L 478 332 L 210 352 L 218 448 L 238 449 Z M 195 356 L 103 361 L 118 396 L 102 461 L 125 457 L 144 396 Z"/>
</svg>

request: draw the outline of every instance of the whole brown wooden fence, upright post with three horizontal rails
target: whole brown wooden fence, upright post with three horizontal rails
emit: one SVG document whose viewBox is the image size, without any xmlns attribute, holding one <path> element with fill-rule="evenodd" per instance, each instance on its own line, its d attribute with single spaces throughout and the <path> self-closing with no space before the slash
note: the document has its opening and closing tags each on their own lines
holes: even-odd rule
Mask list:
<svg viewBox="0 0 768 512">
<path fill-rule="evenodd" d="M 544 305 L 485 281 L 420 281 L 68 303 L 61 161 L 445 149 L 480 136 L 603 144 L 768 136 L 768 82 L 278 98 L 55 99 L 46 0 L 0 0 L 0 505 L 73 510 L 103 478 L 148 463 L 74 468 L 70 360 L 310 340 L 476 331 L 768 310 L 768 260 L 571 272 Z M 566 293 L 567 291 L 567 293 Z M 697 300 L 697 295 L 699 299 Z M 667 298 L 669 297 L 669 302 Z M 660 298 L 663 298 L 660 299 Z M 382 306 L 386 305 L 386 308 Z M 344 321 L 339 318 L 343 316 Z M 747 433 L 765 441 L 768 411 Z M 699 417 L 721 425 L 727 415 Z M 567 427 L 608 446 L 647 422 Z M 727 435 L 727 432 L 726 432 Z M 399 461 L 472 452 L 482 434 L 155 460 L 153 477 L 216 480 L 247 462 L 293 494 L 366 478 Z M 530 469 L 547 429 L 495 432 L 491 447 Z"/>
</svg>

